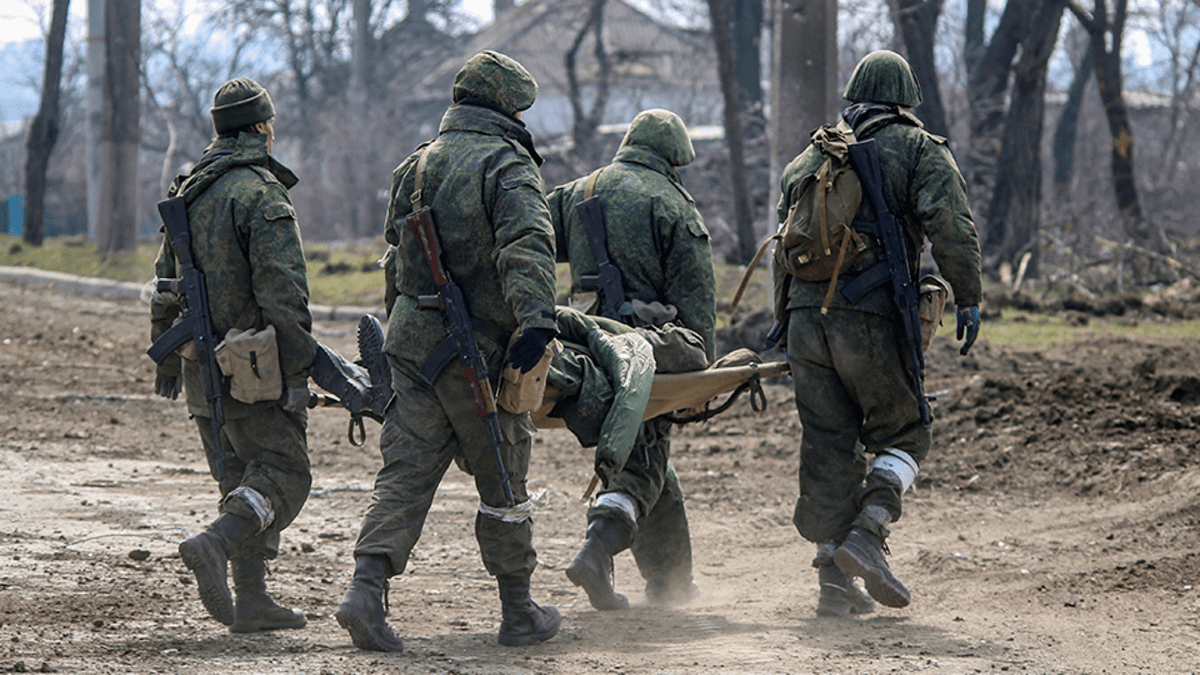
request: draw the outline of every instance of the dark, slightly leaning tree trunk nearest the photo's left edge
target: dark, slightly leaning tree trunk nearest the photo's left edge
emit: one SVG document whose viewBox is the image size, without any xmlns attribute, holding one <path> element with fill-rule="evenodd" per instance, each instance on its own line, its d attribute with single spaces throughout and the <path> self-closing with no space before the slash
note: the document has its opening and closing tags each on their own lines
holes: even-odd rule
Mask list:
<svg viewBox="0 0 1200 675">
<path fill-rule="evenodd" d="M 29 127 L 29 137 L 25 138 L 25 231 L 22 239 L 34 246 L 41 246 L 46 235 L 46 169 L 59 139 L 59 91 L 68 2 L 70 0 L 54 0 L 50 35 L 46 40 L 42 102 Z"/>
</svg>

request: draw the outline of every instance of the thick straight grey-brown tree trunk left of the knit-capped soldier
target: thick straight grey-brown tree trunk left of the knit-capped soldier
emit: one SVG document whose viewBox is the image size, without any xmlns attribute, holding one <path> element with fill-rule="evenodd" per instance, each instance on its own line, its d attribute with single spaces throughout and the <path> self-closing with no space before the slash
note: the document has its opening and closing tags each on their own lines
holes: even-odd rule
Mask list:
<svg viewBox="0 0 1200 675">
<path fill-rule="evenodd" d="M 139 66 L 142 5 L 110 0 L 104 13 L 107 35 L 104 124 L 101 136 L 101 208 L 107 231 L 97 251 L 108 256 L 132 251 L 138 232 Z M 104 223 L 104 220 L 101 221 Z"/>
</svg>

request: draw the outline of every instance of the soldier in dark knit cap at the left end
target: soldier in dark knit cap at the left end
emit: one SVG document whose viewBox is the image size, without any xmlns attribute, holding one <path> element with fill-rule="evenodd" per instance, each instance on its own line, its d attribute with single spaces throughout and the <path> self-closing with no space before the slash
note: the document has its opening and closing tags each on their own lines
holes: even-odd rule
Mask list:
<svg viewBox="0 0 1200 675">
<path fill-rule="evenodd" d="M 196 575 L 204 608 L 230 631 L 302 628 L 304 614 L 275 604 L 265 583 L 265 561 L 278 554 L 280 532 L 300 513 L 312 484 L 305 432 L 317 342 L 300 229 L 288 198 L 296 177 L 270 154 L 275 107 L 257 82 L 222 84 L 211 114 L 217 138 L 187 175 L 175 179 L 168 196 L 187 202 L 192 256 L 208 279 L 214 335 L 274 327 L 283 384 L 270 400 L 248 404 L 230 396 L 226 386 L 217 450 L 197 363 L 172 354 L 158 365 L 155 392 L 175 399 L 186 388 L 187 411 L 222 495 L 221 514 L 180 544 L 179 554 Z M 155 274 L 176 276 L 169 240 Z M 151 338 L 157 339 L 179 316 L 178 299 L 156 293 L 151 312 Z M 236 604 L 226 581 L 227 561 L 233 562 Z"/>
</svg>

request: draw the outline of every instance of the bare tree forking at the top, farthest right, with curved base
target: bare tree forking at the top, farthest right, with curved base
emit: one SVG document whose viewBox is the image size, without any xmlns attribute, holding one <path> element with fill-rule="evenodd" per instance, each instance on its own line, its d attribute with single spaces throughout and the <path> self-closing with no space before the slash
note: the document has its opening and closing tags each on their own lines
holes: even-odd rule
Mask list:
<svg viewBox="0 0 1200 675">
<path fill-rule="evenodd" d="M 1139 246 L 1157 253 L 1168 253 L 1171 250 L 1170 243 L 1163 231 L 1152 225 L 1142 211 L 1134 178 L 1133 130 L 1124 101 L 1124 76 L 1121 65 L 1128 0 L 1115 0 L 1111 12 L 1108 0 L 1094 0 L 1091 11 L 1078 0 L 1069 0 L 1068 6 L 1092 38 L 1096 83 L 1112 137 L 1112 189 L 1124 233 Z"/>
</svg>

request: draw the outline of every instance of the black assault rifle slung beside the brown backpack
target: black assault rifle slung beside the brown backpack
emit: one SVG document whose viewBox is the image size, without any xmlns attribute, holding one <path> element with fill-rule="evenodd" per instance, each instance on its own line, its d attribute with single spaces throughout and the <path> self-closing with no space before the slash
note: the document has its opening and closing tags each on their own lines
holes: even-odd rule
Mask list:
<svg viewBox="0 0 1200 675">
<path fill-rule="evenodd" d="M 875 145 L 875 139 L 860 141 L 850 145 L 850 160 L 858 173 L 858 180 L 863 184 L 863 191 L 871 198 L 875 207 L 876 232 L 868 232 L 878 237 L 883 245 L 883 258 L 887 264 L 888 276 L 892 279 L 892 299 L 900 312 L 900 325 L 904 329 L 905 360 L 908 362 L 908 374 L 912 376 L 917 388 L 917 405 L 920 407 L 920 423 L 929 428 L 929 400 L 925 398 L 925 388 L 922 381 L 922 372 L 925 370 L 925 356 L 920 351 L 920 316 L 917 313 L 917 285 L 913 282 L 912 273 L 908 268 L 908 249 L 905 246 L 904 233 L 900 223 L 888 210 L 883 201 L 883 172 L 880 168 L 880 150 Z M 860 221 L 856 221 L 858 227 Z M 870 223 L 869 223 L 870 225 Z"/>
</svg>

